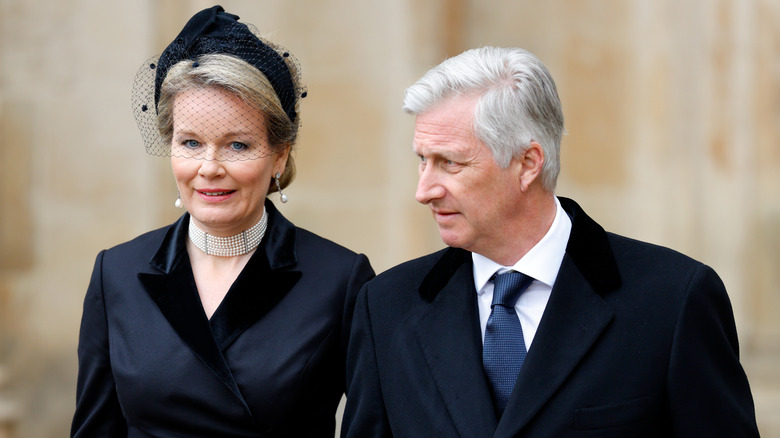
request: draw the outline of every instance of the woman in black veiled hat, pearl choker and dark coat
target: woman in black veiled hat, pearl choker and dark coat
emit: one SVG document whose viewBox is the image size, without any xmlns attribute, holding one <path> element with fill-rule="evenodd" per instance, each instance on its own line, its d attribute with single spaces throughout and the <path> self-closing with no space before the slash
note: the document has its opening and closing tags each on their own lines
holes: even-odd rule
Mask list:
<svg viewBox="0 0 780 438">
<path fill-rule="evenodd" d="M 333 437 L 368 260 L 273 204 L 305 96 L 293 58 L 215 6 L 136 78 L 176 223 L 101 252 L 79 339 L 77 437 Z M 286 198 L 282 196 L 282 202 Z"/>
</svg>

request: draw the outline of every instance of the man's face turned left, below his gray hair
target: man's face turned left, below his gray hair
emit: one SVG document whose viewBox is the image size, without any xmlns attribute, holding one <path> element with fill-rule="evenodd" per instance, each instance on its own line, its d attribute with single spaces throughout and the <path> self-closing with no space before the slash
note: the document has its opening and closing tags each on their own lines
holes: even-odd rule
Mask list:
<svg viewBox="0 0 780 438">
<path fill-rule="evenodd" d="M 498 167 L 474 135 L 477 98 L 456 96 L 417 115 L 415 197 L 430 207 L 445 244 L 487 256 L 511 238 L 509 224 L 521 209 L 521 165 L 515 158 L 506 169 Z"/>
</svg>

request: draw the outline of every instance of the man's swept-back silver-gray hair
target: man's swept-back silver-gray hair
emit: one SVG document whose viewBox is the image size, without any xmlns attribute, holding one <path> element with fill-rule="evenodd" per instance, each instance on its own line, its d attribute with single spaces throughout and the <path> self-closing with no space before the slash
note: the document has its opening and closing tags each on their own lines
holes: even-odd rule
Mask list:
<svg viewBox="0 0 780 438">
<path fill-rule="evenodd" d="M 406 89 L 403 110 L 420 114 L 450 97 L 480 94 L 474 134 L 490 148 L 496 164 L 528 150 L 544 150 L 541 179 L 550 192 L 560 172 L 563 110 L 550 72 L 527 50 L 482 47 L 449 58 Z"/>
</svg>

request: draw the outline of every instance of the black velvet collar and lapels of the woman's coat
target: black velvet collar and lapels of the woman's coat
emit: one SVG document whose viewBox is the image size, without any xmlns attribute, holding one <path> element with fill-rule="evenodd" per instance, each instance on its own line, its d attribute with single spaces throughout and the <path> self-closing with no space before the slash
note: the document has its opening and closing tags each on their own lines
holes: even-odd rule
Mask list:
<svg viewBox="0 0 780 438">
<path fill-rule="evenodd" d="M 150 261 L 156 272 L 138 278 L 182 341 L 249 410 L 223 352 L 247 328 L 268 313 L 301 276 L 293 270 L 295 227 L 266 201 L 268 229 L 223 302 L 206 317 L 186 251 L 189 215 L 166 233 Z"/>
</svg>

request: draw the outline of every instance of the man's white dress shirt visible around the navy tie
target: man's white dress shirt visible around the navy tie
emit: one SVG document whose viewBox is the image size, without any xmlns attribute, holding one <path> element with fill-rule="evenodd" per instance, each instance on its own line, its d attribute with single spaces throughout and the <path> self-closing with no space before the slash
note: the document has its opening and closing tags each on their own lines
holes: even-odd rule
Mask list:
<svg viewBox="0 0 780 438">
<path fill-rule="evenodd" d="M 485 341 L 485 326 L 490 316 L 490 304 L 493 302 L 493 282 L 490 278 L 496 272 L 517 271 L 534 278 L 515 304 L 515 311 L 523 327 L 523 339 L 527 350 L 531 349 L 536 329 L 542 319 L 547 301 L 550 299 L 555 279 L 561 268 L 566 244 L 571 233 L 571 219 L 555 198 L 557 210 L 547 234 L 514 266 L 503 266 L 477 253 L 471 253 L 474 261 L 474 287 L 477 290 L 479 305 L 479 325 L 482 329 L 482 341 Z"/>
</svg>

